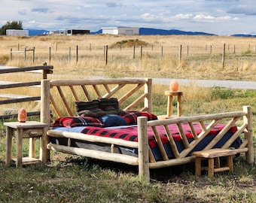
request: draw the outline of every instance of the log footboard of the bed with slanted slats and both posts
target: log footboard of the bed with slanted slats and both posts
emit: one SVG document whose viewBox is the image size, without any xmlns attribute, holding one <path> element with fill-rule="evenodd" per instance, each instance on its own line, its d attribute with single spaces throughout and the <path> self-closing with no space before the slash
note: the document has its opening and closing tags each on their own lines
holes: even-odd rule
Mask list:
<svg viewBox="0 0 256 203">
<path fill-rule="evenodd" d="M 218 141 L 221 140 L 221 138 L 224 136 L 228 130 L 236 124 L 238 126 L 238 130 L 236 133 L 234 133 L 230 139 L 224 144 L 224 148 L 230 147 L 230 144 L 233 143 L 233 141 L 239 137 L 239 135 L 244 134 L 245 138 L 243 140 L 242 145 L 237 150 L 237 153 L 245 153 L 246 161 L 248 163 L 254 162 L 254 149 L 253 149 L 253 135 L 252 135 L 252 129 L 251 129 L 251 107 L 250 106 L 244 106 L 243 111 L 234 111 L 234 112 L 227 112 L 227 113 L 221 113 L 221 114 L 210 114 L 210 115 L 203 115 L 203 116 L 194 116 L 194 117 L 175 117 L 171 119 L 166 120 L 153 120 L 145 122 L 145 118 L 139 117 L 138 118 L 138 130 L 139 130 L 139 140 L 140 137 L 147 137 L 147 132 L 145 129 L 147 129 L 148 126 L 151 126 L 151 128 L 154 131 L 155 138 L 157 140 L 158 147 L 160 148 L 160 153 L 163 156 L 163 161 L 158 162 L 148 162 L 148 155 L 145 155 L 144 153 L 148 153 L 148 143 L 139 144 L 139 152 L 142 153 L 142 156 L 139 156 L 139 164 L 143 163 L 143 166 L 140 166 L 140 168 L 143 168 L 140 172 L 141 174 L 144 174 L 148 176 L 149 169 L 148 168 L 163 168 L 171 165 L 179 165 L 184 164 L 187 162 L 194 161 L 194 157 L 190 156 L 187 157 L 187 154 L 191 152 L 191 150 L 194 149 L 194 147 L 199 144 L 199 142 L 211 131 L 211 129 L 217 124 L 225 121 L 225 127 L 221 130 L 221 132 L 218 133 L 218 135 L 215 136 L 214 139 L 206 146 L 205 150 L 209 150 L 212 147 L 215 146 L 215 144 L 218 143 Z M 209 123 L 209 125 L 205 125 L 205 122 L 209 122 L 209 120 L 212 122 Z M 242 122 L 242 125 L 238 123 L 238 120 Z M 242 120 L 242 121 L 241 121 Z M 188 123 L 190 126 L 190 130 L 192 133 L 195 133 L 195 130 L 193 129 L 193 123 L 200 123 L 202 132 L 200 135 L 194 135 L 194 141 L 188 142 L 186 136 L 184 135 L 184 132 L 181 127 L 181 123 Z M 167 125 L 169 124 L 175 124 L 178 127 L 179 134 L 181 136 L 181 140 L 184 143 L 185 149 L 182 150 L 180 153 L 177 150 L 177 147 L 175 145 L 175 141 L 172 139 L 172 135 L 169 132 L 169 129 Z M 175 159 L 168 159 L 166 155 L 166 151 L 164 150 L 163 143 L 161 142 L 161 139 L 159 138 L 159 135 L 157 133 L 156 126 L 163 126 L 166 129 L 166 135 L 169 136 L 169 144 L 172 148 L 172 151 L 175 155 Z M 145 157 L 145 158 L 144 158 Z"/>
</svg>

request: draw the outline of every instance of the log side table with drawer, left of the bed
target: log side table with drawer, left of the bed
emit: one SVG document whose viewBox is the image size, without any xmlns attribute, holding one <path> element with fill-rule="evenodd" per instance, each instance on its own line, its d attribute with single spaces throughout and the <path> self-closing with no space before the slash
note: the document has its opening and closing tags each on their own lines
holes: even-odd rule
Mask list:
<svg viewBox="0 0 256 203">
<path fill-rule="evenodd" d="M 7 165 L 11 163 L 12 138 L 17 132 L 17 156 L 13 159 L 17 167 L 35 162 L 46 162 L 46 132 L 48 125 L 39 122 L 8 122 L 4 123 L 6 129 L 6 159 Z M 29 157 L 23 157 L 23 138 L 29 138 Z M 35 159 L 35 138 L 40 138 L 40 158 Z"/>
</svg>

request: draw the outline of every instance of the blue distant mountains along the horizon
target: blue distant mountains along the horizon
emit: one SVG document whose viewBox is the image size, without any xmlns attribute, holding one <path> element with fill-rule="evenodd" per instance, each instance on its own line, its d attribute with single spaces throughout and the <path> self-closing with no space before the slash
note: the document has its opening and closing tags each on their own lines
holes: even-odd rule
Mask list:
<svg viewBox="0 0 256 203">
<path fill-rule="evenodd" d="M 50 32 L 45 29 L 29 29 L 29 36 L 35 35 L 48 35 Z M 90 32 L 90 35 L 102 34 L 102 29 L 99 29 L 96 32 Z M 140 28 L 139 35 L 209 35 L 214 36 L 215 34 L 206 33 L 206 32 L 186 32 L 178 29 L 151 29 L 151 28 Z M 234 37 L 253 37 L 256 35 L 243 35 L 243 34 L 235 34 L 230 35 Z"/>
</svg>

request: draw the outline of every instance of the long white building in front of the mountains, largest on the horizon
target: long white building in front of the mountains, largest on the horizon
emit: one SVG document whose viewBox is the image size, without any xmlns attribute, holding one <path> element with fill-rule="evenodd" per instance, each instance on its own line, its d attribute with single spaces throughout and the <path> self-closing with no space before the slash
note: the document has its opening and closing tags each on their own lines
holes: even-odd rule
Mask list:
<svg viewBox="0 0 256 203">
<path fill-rule="evenodd" d="M 139 28 L 108 27 L 108 28 L 102 28 L 102 34 L 109 34 L 109 35 L 139 35 Z"/>
</svg>

